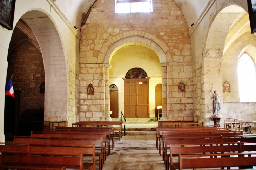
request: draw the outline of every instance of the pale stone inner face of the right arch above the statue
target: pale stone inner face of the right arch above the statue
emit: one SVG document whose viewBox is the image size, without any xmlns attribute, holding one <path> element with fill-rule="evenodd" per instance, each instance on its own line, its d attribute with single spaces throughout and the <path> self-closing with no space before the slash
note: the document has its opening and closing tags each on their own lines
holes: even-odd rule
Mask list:
<svg viewBox="0 0 256 170">
<path fill-rule="evenodd" d="M 201 79 L 197 79 L 203 80 L 201 86 L 204 90 L 202 90 L 203 93 L 196 96 L 196 98 L 203 98 L 205 104 L 201 103 L 201 113 L 199 113 L 200 111 L 198 112 L 198 108 L 195 108 L 197 119 L 204 122 L 206 125 L 212 124 L 212 121 L 210 120 L 212 115 L 212 100 L 209 95 L 211 87 L 213 86 L 214 90 L 217 90 L 221 97 L 223 96 L 222 56 L 225 46 L 227 46 L 229 42 L 232 43 L 232 40 L 227 40 L 227 35 L 234 36 L 230 34 L 230 27 L 236 25 L 236 19 L 243 12 L 245 12 L 244 9 L 239 6 L 226 5 L 226 7 L 222 8 L 222 10 L 220 10 L 214 17 L 213 22 L 209 24 L 208 36 L 206 36 L 206 45 L 204 47 L 202 58 L 203 74 L 199 75 L 201 76 Z M 225 23 L 225 25 L 222 23 Z M 222 98 L 221 101 L 223 101 Z M 196 103 L 199 102 L 196 101 Z"/>
</svg>

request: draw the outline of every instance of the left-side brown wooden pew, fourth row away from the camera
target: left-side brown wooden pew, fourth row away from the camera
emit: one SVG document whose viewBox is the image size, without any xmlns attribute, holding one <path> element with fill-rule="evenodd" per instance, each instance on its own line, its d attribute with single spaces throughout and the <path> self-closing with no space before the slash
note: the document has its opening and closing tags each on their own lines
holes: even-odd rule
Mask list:
<svg viewBox="0 0 256 170">
<path fill-rule="evenodd" d="M 48 132 L 48 133 L 47 133 Z M 93 134 L 93 135 L 92 135 Z M 107 141 L 106 133 L 103 133 L 102 131 L 86 131 L 86 132 L 58 132 L 58 131 L 46 131 L 46 132 L 31 132 L 31 138 L 34 137 L 65 137 L 65 138 L 103 138 L 103 142 L 105 145 L 103 146 L 104 149 L 104 155 L 105 155 L 105 160 L 106 160 L 106 151 L 108 151 L 108 155 L 110 154 L 110 146 L 109 146 L 109 141 Z M 108 149 L 107 149 L 108 148 Z"/>
</svg>

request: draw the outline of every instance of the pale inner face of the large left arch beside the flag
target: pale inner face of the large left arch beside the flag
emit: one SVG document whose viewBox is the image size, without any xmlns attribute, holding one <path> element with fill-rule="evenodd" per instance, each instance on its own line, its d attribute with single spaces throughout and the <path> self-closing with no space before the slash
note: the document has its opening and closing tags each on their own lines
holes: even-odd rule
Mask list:
<svg viewBox="0 0 256 170">
<path fill-rule="evenodd" d="M 53 21 L 43 12 L 32 10 L 21 19 L 38 40 L 45 67 L 45 121 L 67 121 L 67 59 Z"/>
</svg>

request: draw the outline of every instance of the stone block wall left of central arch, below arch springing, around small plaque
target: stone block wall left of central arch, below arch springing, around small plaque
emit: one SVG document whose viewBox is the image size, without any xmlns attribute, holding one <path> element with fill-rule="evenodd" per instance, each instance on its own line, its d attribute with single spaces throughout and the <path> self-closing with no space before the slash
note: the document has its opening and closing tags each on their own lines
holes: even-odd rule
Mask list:
<svg viewBox="0 0 256 170">
<path fill-rule="evenodd" d="M 104 121 L 104 65 L 81 64 L 79 80 L 79 121 Z M 87 94 L 89 84 L 94 95 Z"/>
</svg>

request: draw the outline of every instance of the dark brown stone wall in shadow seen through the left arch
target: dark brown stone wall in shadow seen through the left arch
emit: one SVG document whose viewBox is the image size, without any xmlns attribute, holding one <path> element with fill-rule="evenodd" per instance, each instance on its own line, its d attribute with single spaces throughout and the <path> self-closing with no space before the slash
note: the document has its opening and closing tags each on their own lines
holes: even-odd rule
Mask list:
<svg viewBox="0 0 256 170">
<path fill-rule="evenodd" d="M 45 94 L 40 93 L 40 85 L 45 81 L 45 69 L 41 52 L 23 41 L 9 54 L 8 61 L 7 81 L 13 75 L 14 90 L 21 90 L 20 113 L 26 109 L 43 109 Z"/>
</svg>

